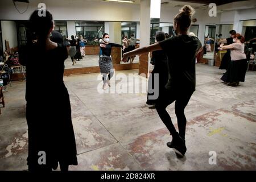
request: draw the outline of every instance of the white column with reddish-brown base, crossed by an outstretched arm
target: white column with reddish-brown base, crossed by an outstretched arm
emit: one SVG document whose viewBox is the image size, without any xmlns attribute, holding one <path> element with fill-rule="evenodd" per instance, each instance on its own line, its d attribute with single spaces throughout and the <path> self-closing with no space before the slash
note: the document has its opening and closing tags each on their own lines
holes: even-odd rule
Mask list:
<svg viewBox="0 0 256 182">
<path fill-rule="evenodd" d="M 141 0 L 140 47 L 150 44 L 150 1 Z M 139 75 L 148 77 L 148 53 L 139 56 Z"/>
</svg>

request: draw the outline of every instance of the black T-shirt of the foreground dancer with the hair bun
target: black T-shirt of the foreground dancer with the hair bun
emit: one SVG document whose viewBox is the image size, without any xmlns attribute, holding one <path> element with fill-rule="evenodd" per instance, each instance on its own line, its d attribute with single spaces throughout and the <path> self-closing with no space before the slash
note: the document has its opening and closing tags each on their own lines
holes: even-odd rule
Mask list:
<svg viewBox="0 0 256 182">
<path fill-rule="evenodd" d="M 202 46 L 196 36 L 179 35 L 159 42 L 168 56 L 167 89 L 193 92 L 196 88 L 196 54 Z"/>
</svg>

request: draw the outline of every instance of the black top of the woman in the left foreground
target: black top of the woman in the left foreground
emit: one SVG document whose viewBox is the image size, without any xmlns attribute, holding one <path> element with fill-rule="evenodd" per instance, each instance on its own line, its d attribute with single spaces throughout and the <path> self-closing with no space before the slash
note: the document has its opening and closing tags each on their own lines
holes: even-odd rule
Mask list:
<svg viewBox="0 0 256 182">
<path fill-rule="evenodd" d="M 35 101 L 37 98 L 50 96 L 60 92 L 65 85 L 63 82 L 64 60 L 68 51 L 62 44 L 45 51 L 37 44 L 24 46 L 19 51 L 19 62 L 26 66 L 26 100 Z M 51 88 L 51 92 L 46 92 Z"/>
</svg>

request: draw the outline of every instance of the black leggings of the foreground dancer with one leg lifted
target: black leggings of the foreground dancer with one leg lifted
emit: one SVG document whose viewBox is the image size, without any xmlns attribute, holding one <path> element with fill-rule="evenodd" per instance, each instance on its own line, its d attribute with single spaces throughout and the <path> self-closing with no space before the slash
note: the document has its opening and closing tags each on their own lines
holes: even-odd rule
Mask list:
<svg viewBox="0 0 256 182">
<path fill-rule="evenodd" d="M 156 101 L 156 111 L 158 111 L 159 117 L 162 119 L 164 125 L 166 125 L 167 129 L 170 131 L 173 138 L 180 137 L 185 139 L 185 130 L 187 119 L 184 114 L 184 109 L 188 104 L 193 92 L 187 93 L 175 93 L 171 90 L 164 90 L 164 93 L 159 96 Z M 177 124 L 179 127 L 179 134 L 177 133 L 174 125 L 172 124 L 172 119 L 168 112 L 166 111 L 166 107 L 172 102 L 175 101 L 175 114 L 177 117 Z"/>
</svg>

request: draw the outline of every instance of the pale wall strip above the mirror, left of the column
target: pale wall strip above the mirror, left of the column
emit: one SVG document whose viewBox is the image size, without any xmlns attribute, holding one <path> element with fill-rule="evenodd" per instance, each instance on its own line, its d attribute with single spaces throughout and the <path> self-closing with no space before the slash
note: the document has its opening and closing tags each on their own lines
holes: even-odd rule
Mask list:
<svg viewBox="0 0 256 182">
<path fill-rule="evenodd" d="M 0 1 L 0 19 L 27 20 L 37 9 L 38 3 L 45 3 L 55 20 L 102 20 L 139 22 L 139 5 L 84 0 L 30 0 L 28 10 L 19 14 L 11 0 Z M 27 3 L 16 2 L 20 11 L 26 10 Z"/>
</svg>

